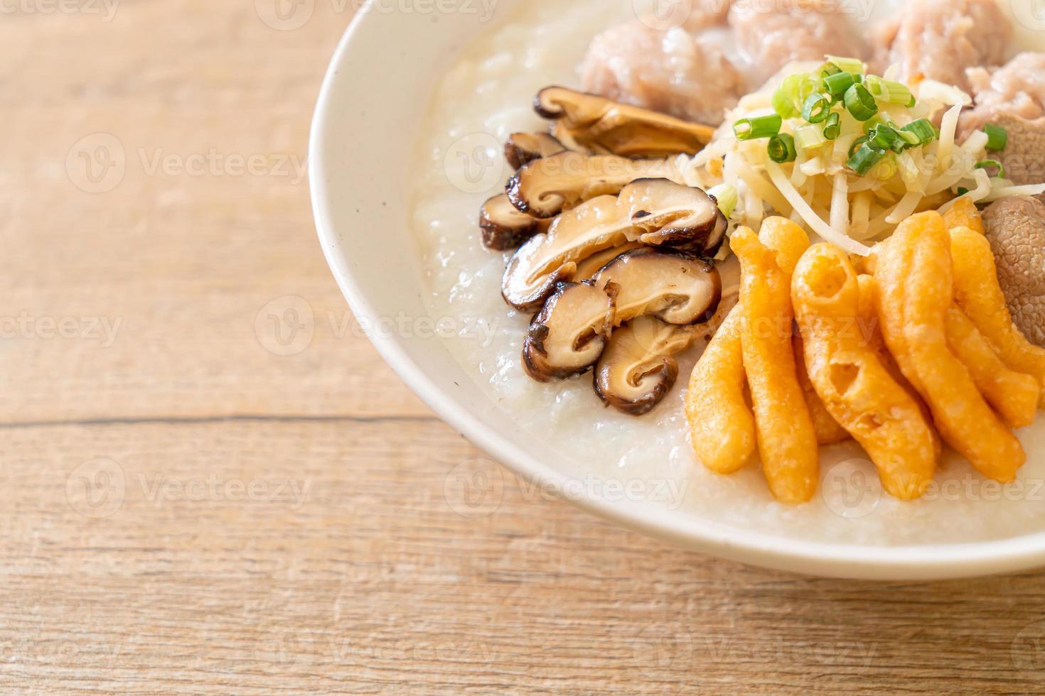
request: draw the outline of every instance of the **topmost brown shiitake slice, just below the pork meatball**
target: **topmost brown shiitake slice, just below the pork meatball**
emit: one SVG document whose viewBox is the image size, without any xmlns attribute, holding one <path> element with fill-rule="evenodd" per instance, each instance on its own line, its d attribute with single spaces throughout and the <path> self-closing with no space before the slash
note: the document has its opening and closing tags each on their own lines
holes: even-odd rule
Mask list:
<svg viewBox="0 0 1045 696">
<path fill-rule="evenodd" d="M 552 133 L 563 144 L 627 158 L 696 154 L 715 135 L 709 125 L 562 87 L 541 90 L 534 109 L 556 120 Z"/>
</svg>

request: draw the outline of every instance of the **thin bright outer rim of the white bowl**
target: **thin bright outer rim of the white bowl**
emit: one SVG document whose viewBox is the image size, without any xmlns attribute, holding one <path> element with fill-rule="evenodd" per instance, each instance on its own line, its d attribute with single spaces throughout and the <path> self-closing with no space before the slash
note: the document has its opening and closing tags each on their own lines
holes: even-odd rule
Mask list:
<svg viewBox="0 0 1045 696">
<path fill-rule="evenodd" d="M 370 4 L 368 0 L 366 4 Z M 324 172 L 328 167 L 325 144 L 338 121 L 328 118 L 332 95 L 340 83 L 351 79 L 347 56 L 353 39 L 368 25 L 373 13 L 352 18 L 327 67 L 317 99 L 308 140 L 308 179 L 317 234 L 324 258 L 353 314 L 361 320 L 377 320 L 366 288 L 353 278 L 336 233 L 329 205 L 330 191 Z M 361 64 L 356 64 L 361 65 Z M 374 64 L 369 64 L 374 65 Z M 347 76 L 347 77 L 346 77 Z M 431 92 L 426 93 L 431 96 Z M 445 423 L 463 434 L 496 461 L 529 481 L 554 489 L 568 480 L 536 457 L 513 445 L 501 433 L 486 428 L 468 407 L 441 389 L 401 345 L 392 332 L 370 333 L 368 338 L 384 360 L 407 385 Z M 570 502 L 590 513 L 628 529 L 667 541 L 707 555 L 791 571 L 807 575 L 880 580 L 934 580 L 982 576 L 1028 570 L 1045 565 L 1045 531 L 999 541 L 924 546 L 860 546 L 773 536 L 727 524 L 683 520 L 672 510 L 632 508 L 596 498 L 570 497 Z M 640 514 L 640 511 L 643 514 Z"/>
</svg>

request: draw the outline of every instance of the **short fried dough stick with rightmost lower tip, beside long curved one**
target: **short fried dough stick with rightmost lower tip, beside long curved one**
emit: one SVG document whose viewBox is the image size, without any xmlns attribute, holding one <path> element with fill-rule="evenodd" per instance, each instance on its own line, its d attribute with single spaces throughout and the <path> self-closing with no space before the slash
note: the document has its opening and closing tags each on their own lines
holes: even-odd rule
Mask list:
<svg viewBox="0 0 1045 696">
<path fill-rule="evenodd" d="M 991 342 L 956 305 L 947 311 L 947 345 L 965 364 L 976 388 L 1009 428 L 1025 428 L 1038 415 L 1041 387 L 1029 375 L 1008 368 Z"/>
</svg>

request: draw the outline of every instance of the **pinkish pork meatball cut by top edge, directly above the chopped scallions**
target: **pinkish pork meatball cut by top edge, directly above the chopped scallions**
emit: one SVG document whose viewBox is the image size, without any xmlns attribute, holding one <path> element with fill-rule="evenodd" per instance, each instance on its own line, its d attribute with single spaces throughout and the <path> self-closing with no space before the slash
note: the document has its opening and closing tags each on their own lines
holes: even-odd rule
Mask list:
<svg viewBox="0 0 1045 696">
<path fill-rule="evenodd" d="M 791 61 L 869 56 L 845 6 L 835 0 L 736 0 L 728 21 L 741 52 L 759 69 L 759 85 Z"/>
</svg>

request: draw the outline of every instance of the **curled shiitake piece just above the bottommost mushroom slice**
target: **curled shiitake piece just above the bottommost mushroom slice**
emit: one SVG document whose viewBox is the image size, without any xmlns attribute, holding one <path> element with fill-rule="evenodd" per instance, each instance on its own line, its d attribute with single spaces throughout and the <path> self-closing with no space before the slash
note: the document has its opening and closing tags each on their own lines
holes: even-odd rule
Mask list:
<svg viewBox="0 0 1045 696">
<path fill-rule="evenodd" d="M 722 299 L 714 265 L 674 249 L 646 246 L 609 262 L 593 279 L 616 297 L 613 323 L 650 314 L 668 323 L 702 323 Z"/>
</svg>

